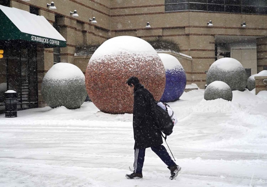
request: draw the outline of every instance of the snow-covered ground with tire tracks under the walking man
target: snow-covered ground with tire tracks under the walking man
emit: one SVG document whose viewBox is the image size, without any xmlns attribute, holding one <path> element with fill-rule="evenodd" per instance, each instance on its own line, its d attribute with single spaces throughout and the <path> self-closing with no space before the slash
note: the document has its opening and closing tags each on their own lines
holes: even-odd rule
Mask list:
<svg viewBox="0 0 267 187">
<path fill-rule="evenodd" d="M 267 187 L 267 91 L 234 91 L 232 102 L 203 95 L 190 91 L 169 103 L 178 116 L 167 139 L 182 167 L 177 180 L 150 148 L 144 178 L 126 179 L 132 114 L 85 102 L 0 115 L 0 187 Z"/>
</svg>

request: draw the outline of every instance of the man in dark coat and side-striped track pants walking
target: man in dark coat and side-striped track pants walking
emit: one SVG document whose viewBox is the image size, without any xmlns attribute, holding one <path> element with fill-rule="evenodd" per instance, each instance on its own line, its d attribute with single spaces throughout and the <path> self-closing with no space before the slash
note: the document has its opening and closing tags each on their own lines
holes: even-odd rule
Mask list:
<svg viewBox="0 0 267 187">
<path fill-rule="evenodd" d="M 168 166 L 171 171 L 170 179 L 177 177 L 181 167 L 171 158 L 166 148 L 162 145 L 163 140 L 161 131 L 155 120 L 153 95 L 139 83 L 137 77 L 130 77 L 126 86 L 128 91 L 134 95 L 134 170 L 132 174 L 127 174 L 127 179 L 141 179 L 142 168 L 145 157 L 145 149 L 151 147 L 160 159 Z"/>
</svg>

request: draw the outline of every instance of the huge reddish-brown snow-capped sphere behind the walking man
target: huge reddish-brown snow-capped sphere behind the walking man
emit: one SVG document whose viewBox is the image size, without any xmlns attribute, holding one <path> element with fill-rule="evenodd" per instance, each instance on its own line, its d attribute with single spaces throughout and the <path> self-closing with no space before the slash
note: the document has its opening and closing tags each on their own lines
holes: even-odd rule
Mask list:
<svg viewBox="0 0 267 187">
<path fill-rule="evenodd" d="M 90 99 L 102 112 L 132 113 L 134 97 L 126 81 L 135 76 L 159 100 L 165 88 L 165 70 L 155 49 L 146 41 L 120 36 L 107 40 L 91 56 L 86 70 Z"/>
</svg>

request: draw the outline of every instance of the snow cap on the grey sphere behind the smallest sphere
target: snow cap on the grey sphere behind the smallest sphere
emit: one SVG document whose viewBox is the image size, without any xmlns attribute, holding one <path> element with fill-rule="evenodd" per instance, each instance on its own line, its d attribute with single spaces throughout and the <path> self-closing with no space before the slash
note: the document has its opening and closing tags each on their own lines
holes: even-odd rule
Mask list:
<svg viewBox="0 0 267 187">
<path fill-rule="evenodd" d="M 227 57 L 216 60 L 211 65 L 211 67 L 213 67 L 213 66 L 217 66 L 218 68 L 223 69 L 223 70 L 232 70 L 235 68 L 243 67 L 242 64 L 238 60 L 236 60 L 234 58 L 227 58 Z M 211 69 L 211 67 L 210 67 L 210 69 Z"/>
</svg>

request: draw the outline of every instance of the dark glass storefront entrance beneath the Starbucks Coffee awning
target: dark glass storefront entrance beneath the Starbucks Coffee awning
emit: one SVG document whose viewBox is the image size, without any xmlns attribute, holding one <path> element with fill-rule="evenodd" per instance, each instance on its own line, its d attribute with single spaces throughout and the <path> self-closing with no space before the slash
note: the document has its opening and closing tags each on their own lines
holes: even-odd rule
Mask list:
<svg viewBox="0 0 267 187">
<path fill-rule="evenodd" d="M 3 87 L 0 92 L 16 91 L 19 110 L 38 107 L 36 44 L 16 41 L 0 42 L 0 46 L 4 49 L 4 58 L 0 60 L 3 67 L 0 69 L 0 85 Z M 0 98 L 0 105 L 4 105 L 3 98 Z"/>
</svg>

